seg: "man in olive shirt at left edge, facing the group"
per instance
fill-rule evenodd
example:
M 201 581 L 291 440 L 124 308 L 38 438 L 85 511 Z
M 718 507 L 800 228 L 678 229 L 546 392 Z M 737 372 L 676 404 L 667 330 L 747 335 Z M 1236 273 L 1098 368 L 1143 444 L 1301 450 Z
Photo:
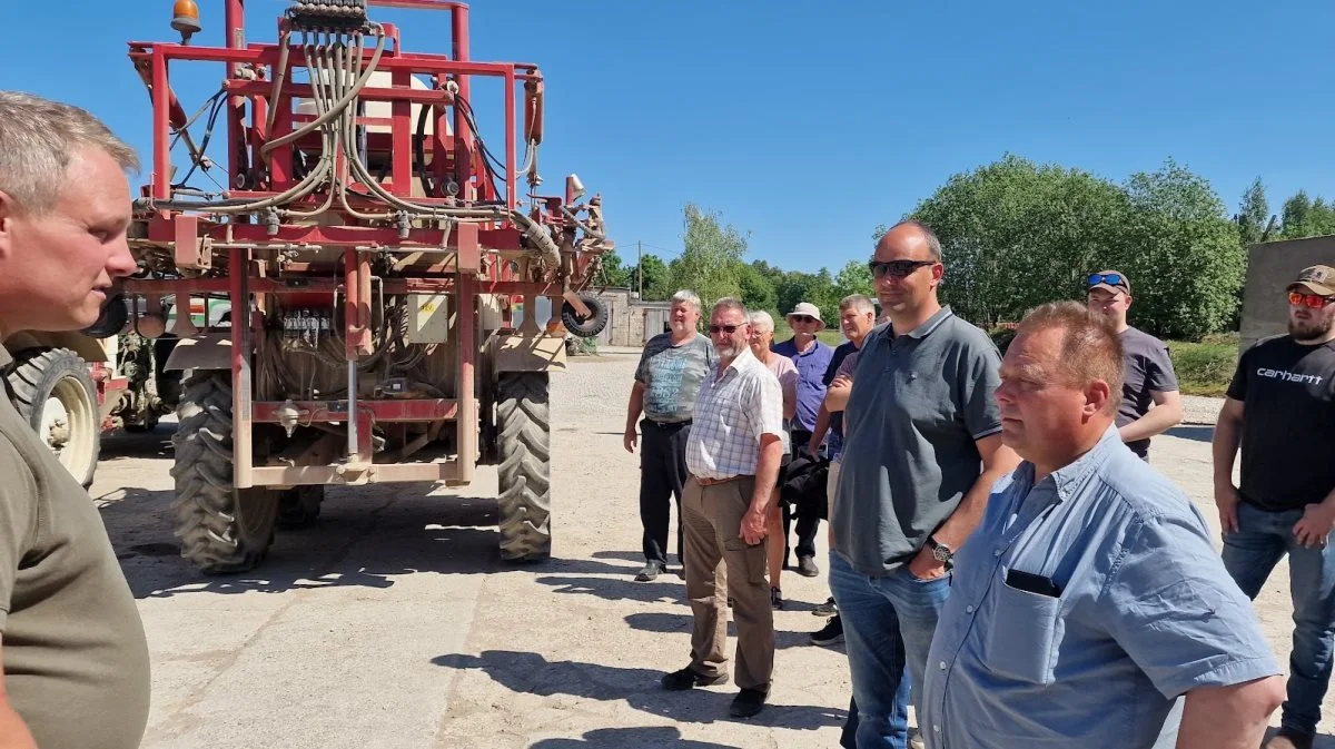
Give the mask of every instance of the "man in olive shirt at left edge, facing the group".
M 0 339 L 81 330 L 135 259 L 135 152 L 88 112 L 0 91 Z M 0 347 L 0 370 L 23 351 Z M 0 378 L 0 382 L 4 382 Z M 88 493 L 0 395 L 0 746 L 134 749 L 148 646 Z

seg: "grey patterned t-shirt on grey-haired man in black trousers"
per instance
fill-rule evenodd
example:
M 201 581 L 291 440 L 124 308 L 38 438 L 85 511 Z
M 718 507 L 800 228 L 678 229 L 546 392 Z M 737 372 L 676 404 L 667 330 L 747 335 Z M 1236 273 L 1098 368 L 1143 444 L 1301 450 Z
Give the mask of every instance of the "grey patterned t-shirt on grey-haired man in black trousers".
M 714 346 L 700 334 L 680 346 L 673 346 L 670 332 L 650 338 L 635 368 L 635 382 L 645 386 L 645 417 L 654 422 L 689 421 L 714 358 Z

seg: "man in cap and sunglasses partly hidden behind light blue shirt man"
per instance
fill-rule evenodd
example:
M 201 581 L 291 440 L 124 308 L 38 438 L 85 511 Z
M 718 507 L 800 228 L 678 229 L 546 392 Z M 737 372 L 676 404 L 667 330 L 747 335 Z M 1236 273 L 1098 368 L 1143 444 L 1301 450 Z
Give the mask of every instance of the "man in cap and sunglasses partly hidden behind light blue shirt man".
M 1149 438 L 1181 421 L 1181 395 L 1168 346 L 1127 324 L 1131 308 L 1131 280 L 1121 271 L 1099 271 L 1085 279 L 1085 308 L 1108 320 L 1121 336 L 1125 372 L 1121 405 L 1117 406 L 1117 433 L 1131 451 L 1149 459 Z

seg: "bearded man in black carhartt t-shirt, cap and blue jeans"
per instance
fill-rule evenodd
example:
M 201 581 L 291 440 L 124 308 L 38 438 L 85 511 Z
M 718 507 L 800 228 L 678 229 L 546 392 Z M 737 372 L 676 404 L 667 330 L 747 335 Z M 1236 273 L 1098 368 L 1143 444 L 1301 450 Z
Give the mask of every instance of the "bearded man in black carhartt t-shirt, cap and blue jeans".
M 1224 566 L 1255 598 L 1288 554 L 1294 650 L 1279 734 L 1267 749 L 1308 749 L 1331 678 L 1335 628 L 1335 268 L 1288 286 L 1288 335 L 1238 360 L 1215 427 L 1215 503 Z M 1242 445 L 1242 485 L 1234 458 Z

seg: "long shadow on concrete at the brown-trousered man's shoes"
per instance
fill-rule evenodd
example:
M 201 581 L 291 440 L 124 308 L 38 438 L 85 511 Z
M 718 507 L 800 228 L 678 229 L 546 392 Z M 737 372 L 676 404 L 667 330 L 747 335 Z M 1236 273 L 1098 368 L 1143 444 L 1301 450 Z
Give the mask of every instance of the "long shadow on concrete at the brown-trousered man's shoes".
M 631 708 L 678 722 L 712 724 L 728 717 L 736 688 L 720 690 L 692 689 L 666 692 L 658 680 L 662 672 L 650 669 L 623 669 L 578 661 L 547 661 L 538 653 L 513 650 L 485 650 L 481 656 L 450 654 L 431 660 L 438 666 L 485 672 L 497 684 L 522 694 L 551 697 L 567 694 L 585 700 L 625 701 Z M 794 730 L 817 730 L 824 726 L 844 725 L 844 710 L 812 705 L 769 705 L 748 722 Z M 651 729 L 631 729 L 651 730 Z M 595 732 L 597 733 L 597 732 Z M 583 744 L 554 744 L 543 746 L 585 746 Z M 597 744 L 597 746 L 626 746 L 625 744 Z M 634 746 L 633 744 L 630 746 Z M 655 745 L 657 746 L 657 745 Z M 665 746 L 665 744 L 663 744 Z M 690 744 L 684 744 L 690 746 Z M 697 745 L 709 748 L 712 745 Z

